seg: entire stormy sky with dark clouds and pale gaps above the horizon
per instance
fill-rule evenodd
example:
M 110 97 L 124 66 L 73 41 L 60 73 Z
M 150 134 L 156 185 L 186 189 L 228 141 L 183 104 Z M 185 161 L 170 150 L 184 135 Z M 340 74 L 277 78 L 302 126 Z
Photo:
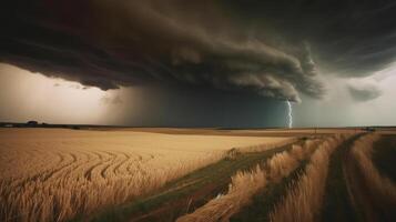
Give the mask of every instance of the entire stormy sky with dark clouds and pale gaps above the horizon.
M 394 1 L 16 0 L 0 121 L 395 125 Z

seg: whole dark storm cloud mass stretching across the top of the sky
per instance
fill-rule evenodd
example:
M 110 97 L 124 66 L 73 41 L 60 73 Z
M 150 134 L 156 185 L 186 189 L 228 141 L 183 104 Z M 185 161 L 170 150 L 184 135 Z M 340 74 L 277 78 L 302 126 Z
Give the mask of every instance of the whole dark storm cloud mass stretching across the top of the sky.
M 390 61 L 396 50 L 394 8 L 387 2 L 9 4 L 1 11 L 2 61 L 103 90 L 181 83 L 298 101 L 299 92 L 324 93 L 315 61 L 364 75 Z

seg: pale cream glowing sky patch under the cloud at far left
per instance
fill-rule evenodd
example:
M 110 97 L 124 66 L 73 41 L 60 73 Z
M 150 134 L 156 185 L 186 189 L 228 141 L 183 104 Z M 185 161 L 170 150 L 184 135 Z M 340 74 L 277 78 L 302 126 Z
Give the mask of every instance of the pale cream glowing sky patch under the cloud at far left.
M 1 121 L 101 123 L 108 92 L 0 63 Z

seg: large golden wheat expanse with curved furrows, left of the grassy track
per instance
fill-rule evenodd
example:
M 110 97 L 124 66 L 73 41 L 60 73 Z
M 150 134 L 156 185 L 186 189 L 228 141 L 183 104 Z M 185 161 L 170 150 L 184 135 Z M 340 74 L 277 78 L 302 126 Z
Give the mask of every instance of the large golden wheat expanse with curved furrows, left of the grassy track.
M 284 138 L 124 131 L 0 130 L 0 221 L 65 221 L 120 204 L 215 162 L 231 148 Z

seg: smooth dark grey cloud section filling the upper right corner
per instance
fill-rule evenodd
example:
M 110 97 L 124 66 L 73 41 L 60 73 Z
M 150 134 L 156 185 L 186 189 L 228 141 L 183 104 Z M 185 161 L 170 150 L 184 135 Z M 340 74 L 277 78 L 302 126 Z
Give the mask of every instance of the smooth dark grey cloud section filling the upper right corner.
M 321 70 L 366 77 L 396 60 L 393 0 L 224 0 L 285 41 L 307 40 Z

